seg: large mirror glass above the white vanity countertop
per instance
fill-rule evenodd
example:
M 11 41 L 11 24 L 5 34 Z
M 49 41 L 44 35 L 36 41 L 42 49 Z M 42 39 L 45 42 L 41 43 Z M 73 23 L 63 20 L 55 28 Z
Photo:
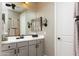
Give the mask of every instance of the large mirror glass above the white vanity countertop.
M 41 31 L 40 18 L 36 18 L 35 4 L 3 2 L 2 20 L 4 21 L 4 34 L 19 36 Z

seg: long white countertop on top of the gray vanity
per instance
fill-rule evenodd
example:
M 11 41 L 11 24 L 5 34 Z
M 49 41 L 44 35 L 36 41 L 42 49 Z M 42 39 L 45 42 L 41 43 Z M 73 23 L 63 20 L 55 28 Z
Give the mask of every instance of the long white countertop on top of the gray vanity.
M 16 43 L 16 42 L 22 42 L 22 41 L 44 39 L 44 35 L 38 35 L 38 37 L 24 36 L 23 39 L 16 39 L 16 38 L 17 38 L 17 36 L 15 36 L 15 37 L 8 37 L 8 40 L 7 41 L 2 41 L 1 44 Z

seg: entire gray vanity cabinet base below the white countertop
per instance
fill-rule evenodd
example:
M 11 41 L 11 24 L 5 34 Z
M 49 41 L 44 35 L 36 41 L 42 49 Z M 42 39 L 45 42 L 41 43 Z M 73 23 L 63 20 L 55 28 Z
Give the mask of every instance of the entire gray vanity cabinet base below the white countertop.
M 2 56 L 42 56 L 43 39 L 2 44 Z

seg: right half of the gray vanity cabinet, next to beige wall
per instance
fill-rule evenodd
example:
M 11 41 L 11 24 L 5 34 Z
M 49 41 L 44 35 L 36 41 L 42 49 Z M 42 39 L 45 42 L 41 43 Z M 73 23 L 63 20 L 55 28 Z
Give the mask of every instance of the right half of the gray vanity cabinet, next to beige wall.
M 44 55 L 44 41 L 42 39 L 29 41 L 29 56 Z

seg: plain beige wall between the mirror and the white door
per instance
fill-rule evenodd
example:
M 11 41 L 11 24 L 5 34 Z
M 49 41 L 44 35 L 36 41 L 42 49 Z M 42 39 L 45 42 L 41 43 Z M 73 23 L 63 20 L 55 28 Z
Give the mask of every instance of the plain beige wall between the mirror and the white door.
M 37 17 L 42 16 L 48 20 L 48 26 L 43 27 L 43 31 L 46 31 L 45 53 L 52 56 L 54 55 L 54 3 L 38 3 L 38 7 Z

